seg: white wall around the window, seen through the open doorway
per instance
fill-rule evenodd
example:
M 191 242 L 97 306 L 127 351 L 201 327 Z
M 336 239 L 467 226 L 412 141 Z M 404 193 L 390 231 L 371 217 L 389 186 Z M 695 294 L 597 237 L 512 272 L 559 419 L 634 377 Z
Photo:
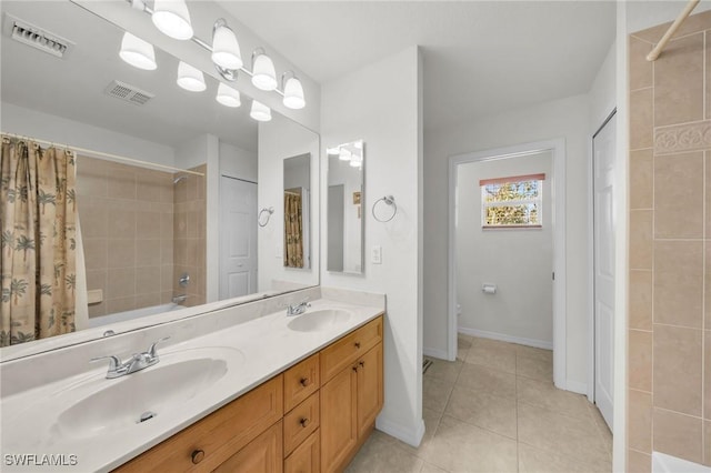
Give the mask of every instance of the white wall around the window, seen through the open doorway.
M 457 294 L 459 329 L 553 344 L 552 153 L 478 161 L 458 167 Z M 544 173 L 541 229 L 482 229 L 481 179 Z M 481 291 L 495 284 L 495 294 Z M 473 331 L 473 332 L 472 332 Z

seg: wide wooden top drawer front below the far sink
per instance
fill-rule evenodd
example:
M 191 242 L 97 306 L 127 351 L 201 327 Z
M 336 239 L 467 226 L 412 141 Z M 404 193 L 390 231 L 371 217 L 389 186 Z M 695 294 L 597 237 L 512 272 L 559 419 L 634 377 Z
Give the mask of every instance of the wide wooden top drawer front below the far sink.
M 321 385 L 382 341 L 382 315 L 321 351 Z

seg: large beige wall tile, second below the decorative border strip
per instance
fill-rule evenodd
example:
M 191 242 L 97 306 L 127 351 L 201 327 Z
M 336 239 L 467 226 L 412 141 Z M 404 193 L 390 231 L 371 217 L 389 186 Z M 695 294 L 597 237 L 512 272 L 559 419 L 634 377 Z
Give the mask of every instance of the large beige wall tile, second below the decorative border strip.
M 654 322 L 701 329 L 703 242 L 654 242 Z

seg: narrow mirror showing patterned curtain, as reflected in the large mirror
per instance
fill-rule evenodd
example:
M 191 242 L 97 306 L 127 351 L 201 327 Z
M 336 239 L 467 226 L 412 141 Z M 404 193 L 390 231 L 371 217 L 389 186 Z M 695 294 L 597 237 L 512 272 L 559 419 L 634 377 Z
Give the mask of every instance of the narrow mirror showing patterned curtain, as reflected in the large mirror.
M 284 266 L 310 268 L 311 154 L 284 160 Z

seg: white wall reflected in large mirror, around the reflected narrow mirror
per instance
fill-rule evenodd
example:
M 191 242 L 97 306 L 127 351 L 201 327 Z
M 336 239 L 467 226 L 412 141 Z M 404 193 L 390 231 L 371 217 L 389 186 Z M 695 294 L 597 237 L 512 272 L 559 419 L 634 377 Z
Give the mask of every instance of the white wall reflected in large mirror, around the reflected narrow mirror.
M 311 187 L 311 264 L 308 269 L 284 268 L 284 189 L 283 161 L 311 153 L 311 182 L 319 179 L 319 135 L 290 119 L 272 114 L 269 122 L 259 123 L 259 185 L 257 208 L 274 208 L 269 223 L 260 227 L 258 246 L 259 291 L 276 289 L 274 282 L 301 285 L 319 284 L 319 188 Z

